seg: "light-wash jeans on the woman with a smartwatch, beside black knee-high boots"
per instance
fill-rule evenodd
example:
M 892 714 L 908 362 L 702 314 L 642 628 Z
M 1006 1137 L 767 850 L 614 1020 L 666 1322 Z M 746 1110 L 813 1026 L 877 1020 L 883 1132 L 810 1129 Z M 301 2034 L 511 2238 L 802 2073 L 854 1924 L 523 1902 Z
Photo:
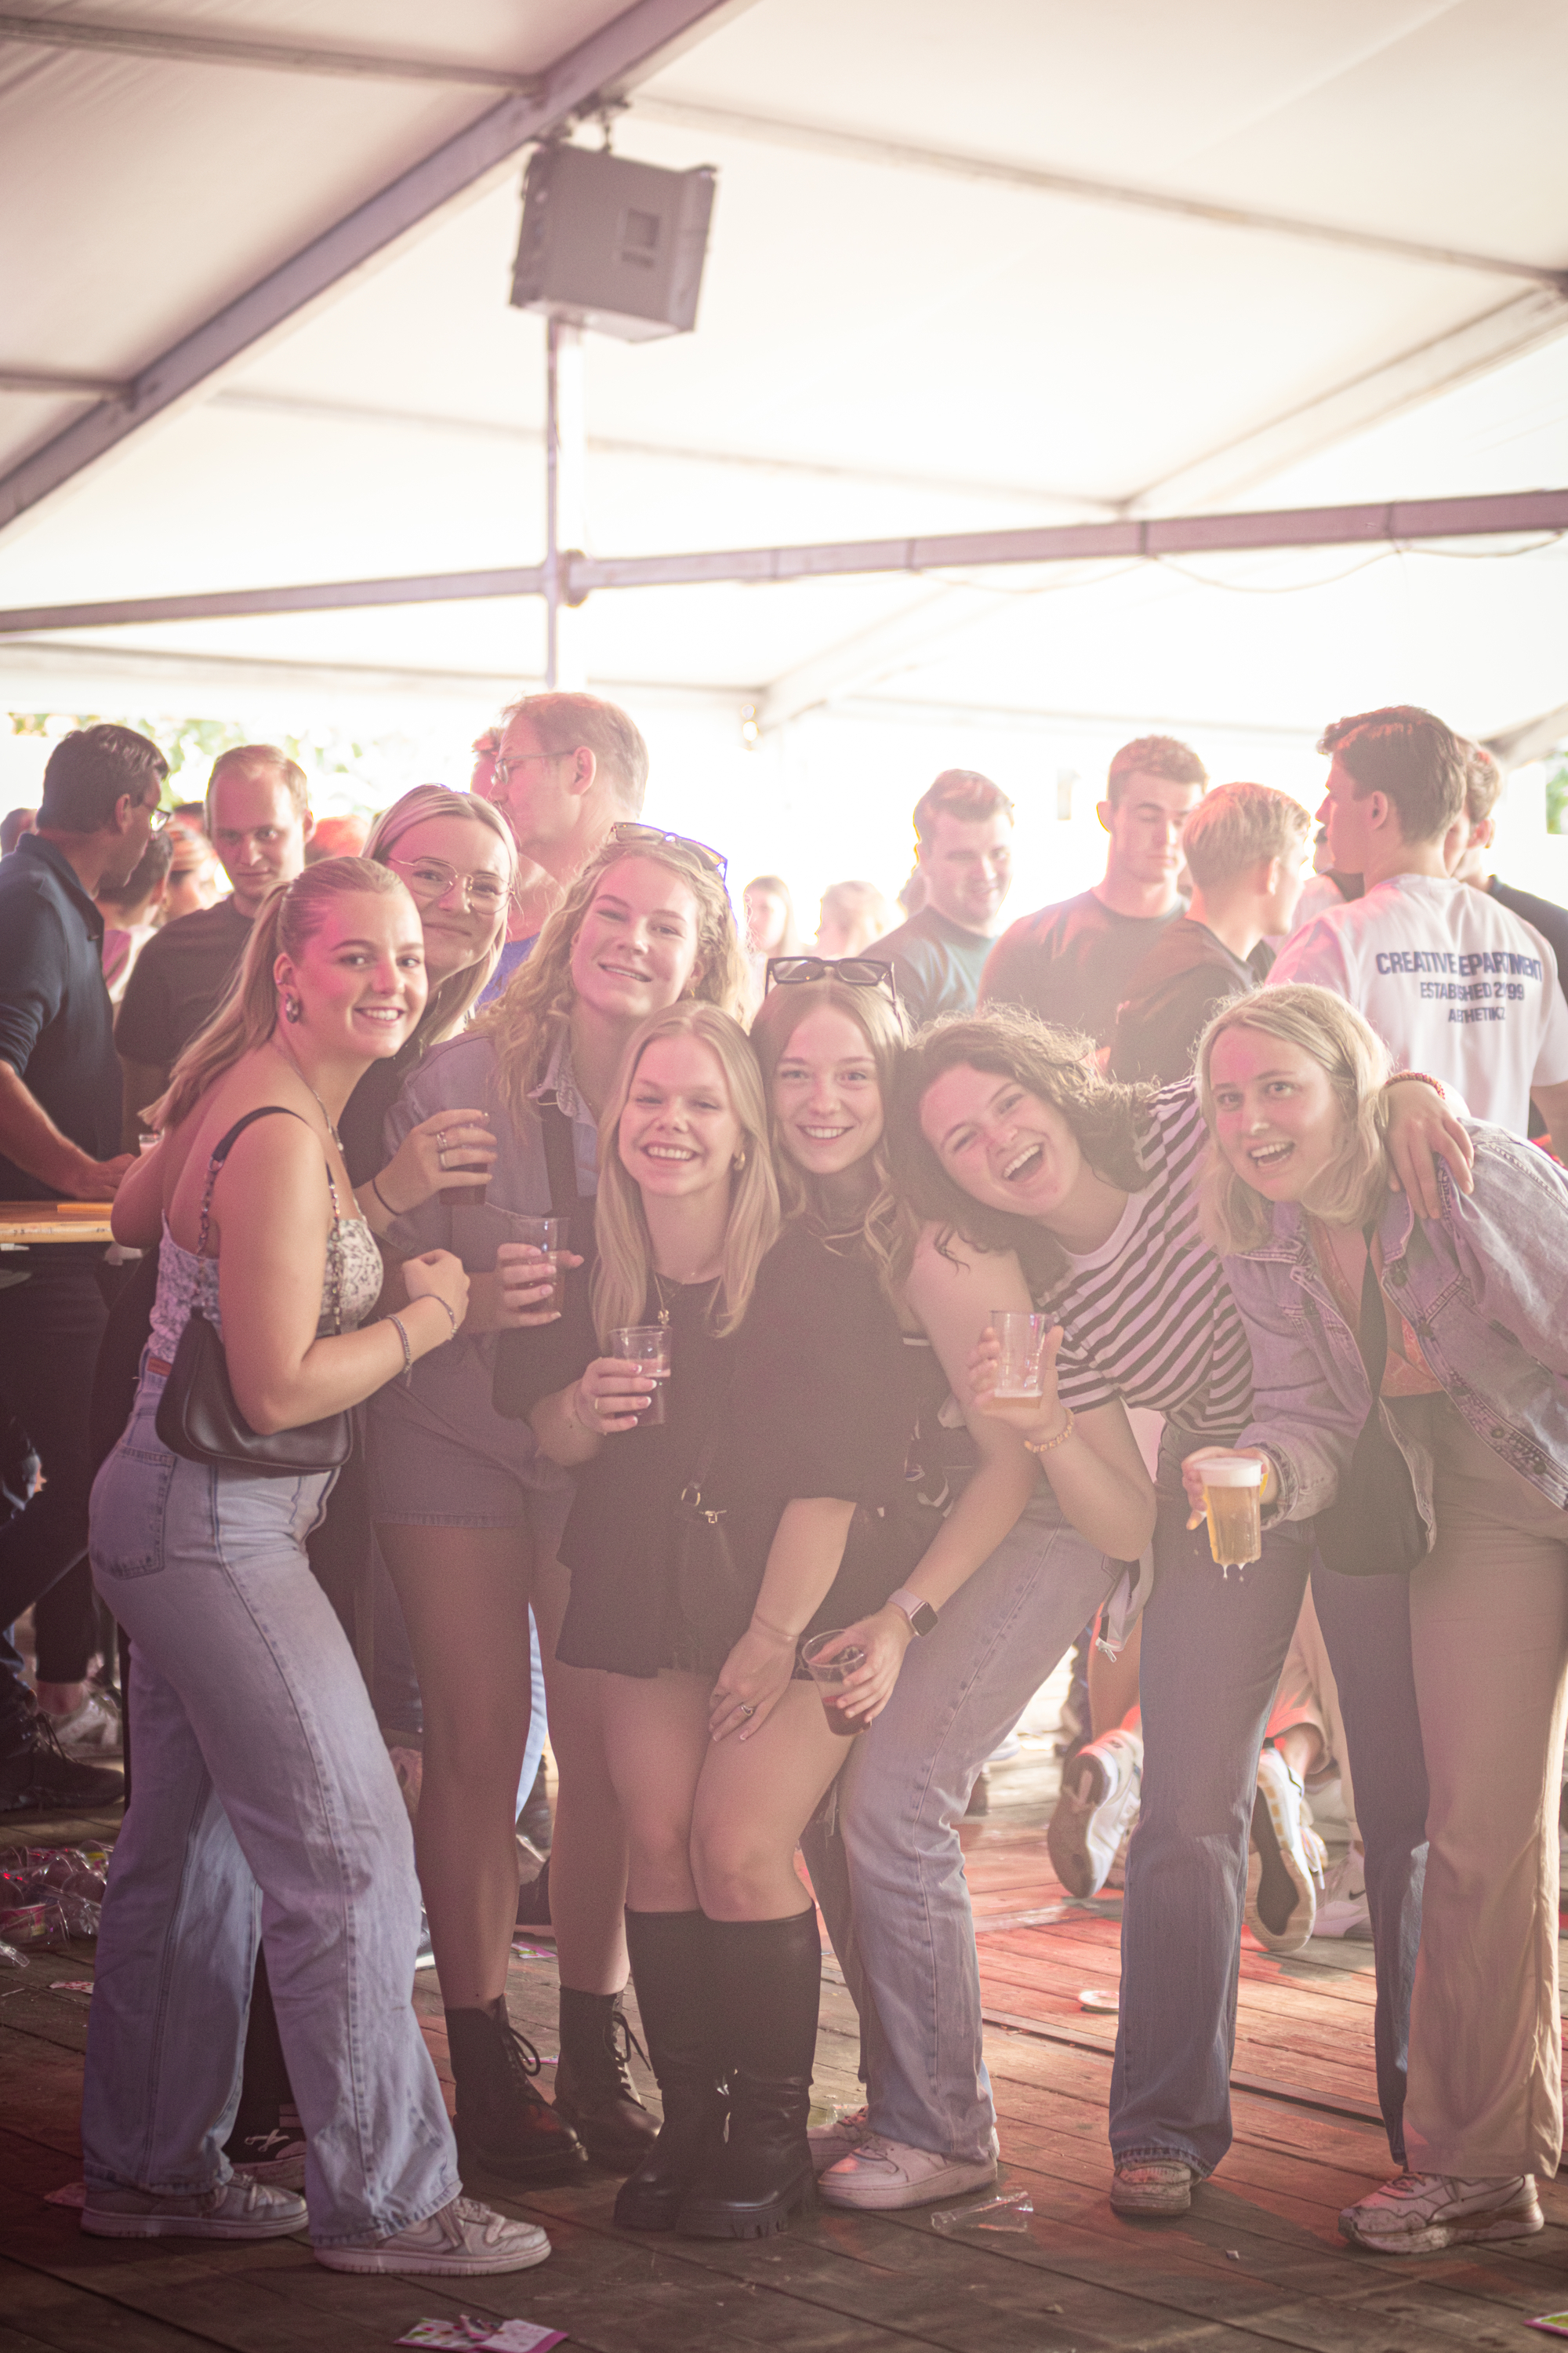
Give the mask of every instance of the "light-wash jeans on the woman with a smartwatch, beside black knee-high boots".
M 910 1642 L 839 1779 L 839 1838 L 813 1824 L 802 1842 L 860 2007 L 870 2125 L 891 2141 L 959 2162 L 990 2155 L 997 2111 L 959 1821 L 980 1765 L 1119 1574 L 1041 1478 L 936 1633 Z

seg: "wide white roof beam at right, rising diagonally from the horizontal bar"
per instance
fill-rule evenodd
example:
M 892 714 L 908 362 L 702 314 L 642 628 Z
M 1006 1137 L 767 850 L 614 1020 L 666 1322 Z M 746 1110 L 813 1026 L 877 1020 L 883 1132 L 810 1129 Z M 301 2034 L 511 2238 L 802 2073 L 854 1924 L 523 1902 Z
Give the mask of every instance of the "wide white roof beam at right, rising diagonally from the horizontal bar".
M 1436 393 L 1453 391 L 1472 376 L 1483 376 L 1505 360 L 1552 344 L 1563 332 L 1568 332 L 1568 299 L 1535 287 L 1530 294 L 1502 304 L 1500 311 L 1472 318 L 1462 327 L 1368 369 L 1352 384 L 1340 384 L 1331 393 L 1274 416 L 1267 426 L 1237 435 L 1208 456 L 1168 473 L 1161 482 L 1150 482 L 1135 499 L 1128 499 L 1126 513 L 1171 515 L 1234 499 L 1255 482 L 1274 480 L 1286 466 L 1295 466 L 1352 433 L 1363 433 L 1368 426 L 1382 424 L 1385 416 L 1413 409 Z

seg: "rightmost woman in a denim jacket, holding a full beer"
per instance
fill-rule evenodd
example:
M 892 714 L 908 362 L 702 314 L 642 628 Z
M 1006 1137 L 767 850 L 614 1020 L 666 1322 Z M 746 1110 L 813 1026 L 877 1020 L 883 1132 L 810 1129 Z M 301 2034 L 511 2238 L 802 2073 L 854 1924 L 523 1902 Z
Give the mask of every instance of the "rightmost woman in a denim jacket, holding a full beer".
M 1199 1049 L 1208 1226 L 1253 1344 L 1265 1520 L 1335 1501 L 1371 1384 L 1368 1249 L 1387 1308 L 1380 1419 L 1427 1532 L 1410 1645 L 1432 1807 L 1410 2002 L 1410 2169 L 1340 2231 L 1387 2254 L 1540 2231 L 1561 2151 L 1559 1786 L 1568 1689 L 1568 1176 L 1467 1122 L 1472 1191 L 1389 1188 L 1387 1054 L 1324 988 L 1262 988 Z M 1373 1226 L 1375 1221 L 1375 1226 Z M 1366 1238 L 1371 1233 L 1371 1240 Z M 1201 1454 L 1187 1457 L 1201 1492 Z

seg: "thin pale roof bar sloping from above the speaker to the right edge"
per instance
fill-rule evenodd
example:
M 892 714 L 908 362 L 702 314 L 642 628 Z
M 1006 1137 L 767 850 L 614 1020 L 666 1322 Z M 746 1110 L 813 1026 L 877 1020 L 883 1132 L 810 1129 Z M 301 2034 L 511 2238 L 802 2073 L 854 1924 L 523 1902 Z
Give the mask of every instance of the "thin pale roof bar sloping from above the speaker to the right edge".
M 905 172 L 945 172 L 957 179 L 997 181 L 1004 188 L 1030 188 L 1037 195 L 1065 195 L 1084 205 L 1119 205 L 1133 212 L 1175 212 L 1215 228 L 1253 228 L 1272 238 L 1305 238 L 1309 245 L 1352 247 L 1363 254 L 1392 254 L 1396 261 L 1425 261 L 1439 268 L 1483 271 L 1497 278 L 1533 278 L 1540 285 L 1568 289 L 1568 268 L 1544 261 L 1512 261 L 1502 254 L 1474 254 L 1458 245 L 1420 245 L 1392 238 L 1378 228 L 1349 228 L 1338 221 L 1302 221 L 1288 212 L 1258 212 L 1251 205 L 1215 205 L 1201 195 L 1178 195 L 1171 188 L 1138 188 L 1110 179 L 1086 179 L 1079 172 L 1044 172 L 1037 165 L 1004 162 L 997 155 L 964 155 L 952 148 L 914 146 L 905 139 L 877 139 L 863 132 L 839 132 L 823 122 L 792 122 L 783 115 L 752 115 L 733 106 L 701 106 L 689 99 L 637 99 L 637 113 L 649 122 L 677 122 L 686 129 L 764 139 L 771 146 L 804 148 L 813 155 L 842 155 L 846 162 L 870 162 Z

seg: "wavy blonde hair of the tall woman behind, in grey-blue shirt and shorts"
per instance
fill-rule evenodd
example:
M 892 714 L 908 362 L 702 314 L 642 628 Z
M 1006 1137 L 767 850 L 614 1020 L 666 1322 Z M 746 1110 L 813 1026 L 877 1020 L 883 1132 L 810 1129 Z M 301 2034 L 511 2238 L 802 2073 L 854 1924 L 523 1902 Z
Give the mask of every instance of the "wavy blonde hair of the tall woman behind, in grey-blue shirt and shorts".
M 618 842 L 611 835 L 548 918 L 534 955 L 475 1024 L 475 1033 L 489 1038 L 496 1049 L 496 1087 L 512 1118 L 527 1118 L 529 1096 L 550 1068 L 550 1054 L 576 1002 L 571 951 L 583 915 L 604 875 L 623 859 L 663 866 L 696 899 L 696 965 L 689 995 L 726 1014 L 738 1014 L 745 1005 L 745 960 L 722 875 L 679 842 Z

